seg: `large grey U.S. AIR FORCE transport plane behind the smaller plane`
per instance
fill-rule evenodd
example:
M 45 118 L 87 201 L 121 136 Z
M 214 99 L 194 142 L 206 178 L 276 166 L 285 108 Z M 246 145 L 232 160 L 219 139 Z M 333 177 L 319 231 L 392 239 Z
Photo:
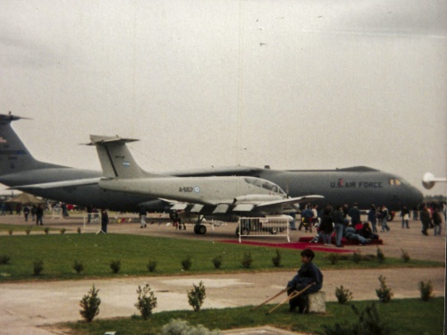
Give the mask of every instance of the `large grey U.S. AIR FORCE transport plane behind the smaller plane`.
M 162 200 L 107 191 L 99 188 L 102 172 L 76 169 L 36 160 L 23 145 L 11 126 L 12 121 L 24 118 L 0 114 L 0 183 L 38 197 L 45 197 L 67 204 L 93 205 L 114 211 L 138 211 L 144 205 L 150 211 L 163 212 L 166 203 Z M 222 167 L 185 172 L 164 172 L 177 177 L 201 176 L 251 176 L 269 180 L 282 188 L 290 197 L 318 194 L 312 204 L 352 205 L 368 209 L 371 204 L 386 205 L 388 209 L 400 210 L 402 205 L 412 208 L 422 202 L 422 193 L 392 173 L 368 167 L 351 167 L 336 170 L 273 170 L 257 167 Z M 84 182 L 80 184 L 80 180 Z M 86 185 L 89 180 L 89 185 Z

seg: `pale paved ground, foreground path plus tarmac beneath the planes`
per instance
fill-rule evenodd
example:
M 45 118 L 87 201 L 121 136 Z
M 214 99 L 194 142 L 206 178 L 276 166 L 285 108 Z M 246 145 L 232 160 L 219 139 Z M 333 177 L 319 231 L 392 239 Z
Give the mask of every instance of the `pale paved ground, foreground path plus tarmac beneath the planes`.
M 166 222 L 148 224 L 147 229 L 139 229 L 139 223 L 126 221 L 125 223 L 112 223 L 109 225 L 109 233 L 133 233 L 153 236 L 175 236 L 185 239 L 236 239 L 234 235 L 235 225 L 215 227 L 208 226 L 205 236 L 195 235 L 191 226 L 185 230 L 174 230 L 172 226 L 166 226 Z M 14 216 L 6 216 L 0 222 L 15 222 L 26 224 Z M 82 220 L 71 217 L 59 220 L 50 217 L 44 222 L 54 228 L 66 228 L 67 233 L 75 232 L 78 227 L 83 229 Z M 409 253 L 411 258 L 436 260 L 445 264 L 446 239 L 443 235 L 425 237 L 420 233 L 420 222 L 410 222 L 410 229 L 401 229 L 400 222 L 391 223 L 392 230 L 382 234 L 384 245 L 380 246 L 384 255 L 400 257 L 401 249 Z M 445 227 L 445 225 L 444 225 Z M 95 231 L 97 226 L 86 226 L 86 230 Z M 429 231 L 433 234 L 433 230 Z M 57 232 L 59 233 L 59 232 Z M 291 241 L 297 241 L 300 236 L 309 236 L 303 231 L 291 231 Z M 285 239 L 268 239 L 272 242 L 285 242 Z M 329 250 L 331 247 L 327 247 Z M 349 249 L 360 248 L 364 254 L 375 254 L 375 246 L 352 246 Z M 299 251 L 297 251 L 298 253 Z M 317 259 L 316 259 L 317 264 Z M 334 290 L 343 285 L 350 289 L 355 300 L 376 299 L 375 289 L 379 287 L 377 277 L 382 274 L 386 282 L 394 292 L 394 298 L 420 297 L 417 283 L 419 281 L 432 281 L 435 296 L 445 296 L 445 265 L 444 268 L 426 269 L 381 269 L 381 270 L 356 270 L 325 271 L 324 290 L 326 300 L 335 301 Z M 266 298 L 274 296 L 283 289 L 287 281 L 294 273 L 240 273 L 203 276 L 181 277 L 156 277 L 156 278 L 121 278 L 117 280 L 86 280 L 86 281 L 51 281 L 51 282 L 19 282 L 0 284 L 0 334 L 63 334 L 63 330 L 51 327 L 56 322 L 80 320 L 79 301 L 87 293 L 92 283 L 100 289 L 102 300 L 99 317 L 108 318 L 115 316 L 131 316 L 138 314 L 133 306 L 136 301 L 135 292 L 139 285 L 149 283 L 156 293 L 158 306 L 155 313 L 166 310 L 190 310 L 186 292 L 192 288 L 192 284 L 203 281 L 207 288 L 207 299 L 203 308 L 223 308 L 232 306 L 257 306 Z M 259 288 L 262 288 L 260 290 Z M 131 293 L 130 293 L 131 292 Z M 259 292 L 262 292 L 261 294 Z M 279 297 L 279 302 L 283 297 Z M 47 304 L 51 301 L 51 304 Z M 232 334 L 280 334 L 284 331 L 268 327 L 250 330 L 235 330 Z M 297 334 L 297 333 L 295 333 Z

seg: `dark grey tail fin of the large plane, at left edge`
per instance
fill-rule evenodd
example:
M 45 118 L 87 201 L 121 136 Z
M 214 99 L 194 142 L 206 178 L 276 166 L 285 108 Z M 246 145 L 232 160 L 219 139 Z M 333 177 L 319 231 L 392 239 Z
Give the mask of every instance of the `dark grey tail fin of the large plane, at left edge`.
M 0 175 L 61 167 L 61 165 L 39 162 L 30 154 L 11 126 L 12 121 L 21 119 L 26 118 L 11 113 L 0 114 Z

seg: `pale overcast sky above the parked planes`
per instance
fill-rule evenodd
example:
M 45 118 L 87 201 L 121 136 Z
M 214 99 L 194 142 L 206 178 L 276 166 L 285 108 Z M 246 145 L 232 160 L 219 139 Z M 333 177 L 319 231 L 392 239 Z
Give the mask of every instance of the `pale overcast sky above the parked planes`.
M 39 160 L 447 175 L 445 0 L 0 0 L 0 113 Z

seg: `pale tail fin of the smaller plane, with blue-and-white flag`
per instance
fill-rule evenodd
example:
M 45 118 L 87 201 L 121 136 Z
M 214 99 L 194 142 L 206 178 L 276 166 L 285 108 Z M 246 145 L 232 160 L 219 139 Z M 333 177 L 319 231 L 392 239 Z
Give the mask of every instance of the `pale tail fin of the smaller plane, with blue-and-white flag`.
M 135 179 L 152 176 L 139 167 L 126 146 L 126 143 L 138 139 L 90 135 L 90 140 L 90 145 L 97 147 L 105 178 Z

